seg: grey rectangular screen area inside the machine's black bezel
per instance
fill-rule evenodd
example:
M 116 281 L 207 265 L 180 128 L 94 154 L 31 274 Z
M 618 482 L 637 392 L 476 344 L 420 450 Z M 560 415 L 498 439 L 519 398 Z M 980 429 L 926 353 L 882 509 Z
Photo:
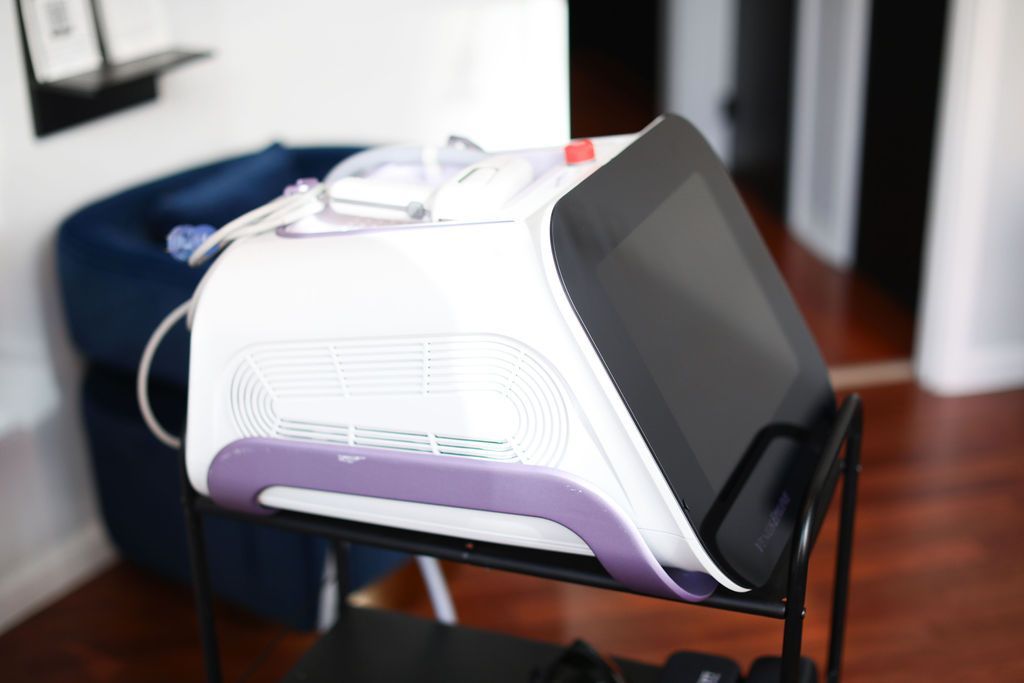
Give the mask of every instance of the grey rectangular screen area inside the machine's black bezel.
M 797 357 L 707 182 L 692 175 L 597 265 L 716 490 L 769 423 Z

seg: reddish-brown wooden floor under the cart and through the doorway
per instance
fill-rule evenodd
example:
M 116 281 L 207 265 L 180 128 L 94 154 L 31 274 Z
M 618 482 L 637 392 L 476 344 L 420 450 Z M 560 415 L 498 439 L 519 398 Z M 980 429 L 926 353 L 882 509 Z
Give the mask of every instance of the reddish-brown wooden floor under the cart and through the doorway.
M 830 365 L 907 355 L 911 323 L 870 285 L 825 268 L 752 207 Z M 847 681 L 1024 681 L 1024 392 L 862 392 L 863 451 Z M 806 652 L 821 661 L 835 516 L 812 565 Z M 462 622 L 657 663 L 674 649 L 748 665 L 780 624 L 650 598 L 447 567 Z M 364 599 L 427 614 L 414 571 Z M 313 640 L 220 605 L 228 681 L 272 681 Z M 400 644 L 396 645 L 400 647 Z M 120 564 L 0 636 L 4 681 L 199 681 L 190 594 Z

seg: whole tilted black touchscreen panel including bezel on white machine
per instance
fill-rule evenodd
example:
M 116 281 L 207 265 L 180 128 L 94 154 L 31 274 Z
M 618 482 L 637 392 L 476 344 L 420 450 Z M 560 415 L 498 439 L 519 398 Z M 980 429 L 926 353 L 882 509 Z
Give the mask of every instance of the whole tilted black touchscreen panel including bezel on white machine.
M 731 178 L 667 116 L 559 200 L 558 274 L 716 563 L 762 585 L 835 414 L 827 371 Z

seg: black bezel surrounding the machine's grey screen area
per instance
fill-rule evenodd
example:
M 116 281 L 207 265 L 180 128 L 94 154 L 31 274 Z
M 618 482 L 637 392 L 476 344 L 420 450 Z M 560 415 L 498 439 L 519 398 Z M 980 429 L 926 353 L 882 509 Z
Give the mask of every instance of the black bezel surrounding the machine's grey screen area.
M 724 487 L 716 490 L 709 481 L 597 274 L 599 264 L 611 250 L 694 174 L 705 180 L 798 361 L 796 377 L 775 408 L 770 424 L 810 430 L 835 411 L 824 362 L 731 178 L 689 123 L 671 115 L 659 118 L 632 144 L 563 196 L 552 210 L 551 244 L 556 269 L 580 323 L 691 526 L 730 578 L 751 585 L 771 572 L 778 553 L 763 559 L 745 557 L 748 565 L 763 565 L 752 572 L 734 569 L 733 564 L 739 562 L 717 552 L 718 543 L 710 538 L 716 528 L 703 525 L 706 520 L 713 526 L 721 522 L 720 510 L 713 515 L 715 519 L 708 517 Z M 751 447 L 755 447 L 753 442 Z M 731 457 L 739 468 L 744 454 Z M 787 489 L 788 482 L 803 485 L 803 474 L 813 467 L 812 460 L 794 457 L 794 467 L 801 471 L 744 481 L 743 485 L 753 489 L 744 489 L 742 496 L 730 492 L 730 505 L 763 506 L 764 500 Z M 752 512 L 752 518 L 757 518 L 753 508 Z M 754 538 L 758 531 L 751 529 Z

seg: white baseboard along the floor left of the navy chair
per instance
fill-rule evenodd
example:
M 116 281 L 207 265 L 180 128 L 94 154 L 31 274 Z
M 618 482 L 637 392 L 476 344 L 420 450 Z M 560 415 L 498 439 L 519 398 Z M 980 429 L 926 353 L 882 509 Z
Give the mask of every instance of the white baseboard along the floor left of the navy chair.
M 0 633 L 111 566 L 117 552 L 98 519 L 0 577 Z

